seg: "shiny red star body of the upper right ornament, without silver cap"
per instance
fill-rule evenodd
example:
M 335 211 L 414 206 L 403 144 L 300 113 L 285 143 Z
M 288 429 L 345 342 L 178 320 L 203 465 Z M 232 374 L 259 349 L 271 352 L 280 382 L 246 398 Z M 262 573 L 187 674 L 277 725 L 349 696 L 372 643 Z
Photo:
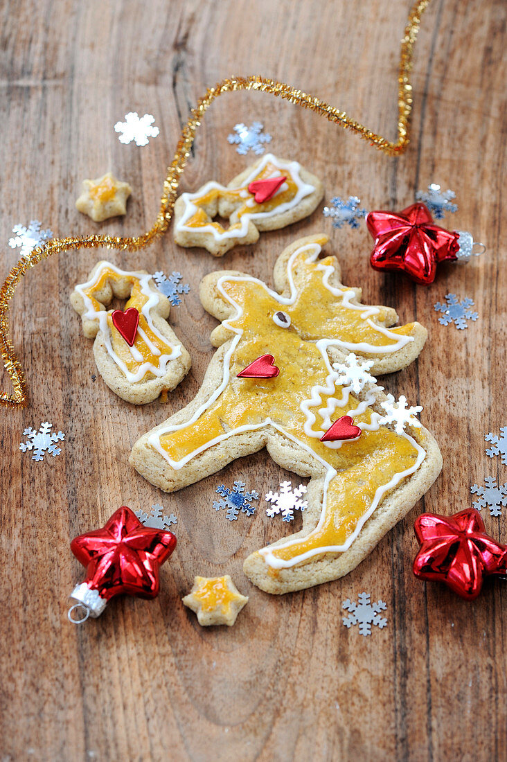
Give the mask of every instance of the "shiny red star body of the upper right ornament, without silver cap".
M 412 203 L 399 214 L 370 212 L 366 224 L 375 239 L 370 258 L 374 270 L 398 270 L 428 286 L 437 264 L 457 259 L 459 233 L 435 225 L 424 203 Z

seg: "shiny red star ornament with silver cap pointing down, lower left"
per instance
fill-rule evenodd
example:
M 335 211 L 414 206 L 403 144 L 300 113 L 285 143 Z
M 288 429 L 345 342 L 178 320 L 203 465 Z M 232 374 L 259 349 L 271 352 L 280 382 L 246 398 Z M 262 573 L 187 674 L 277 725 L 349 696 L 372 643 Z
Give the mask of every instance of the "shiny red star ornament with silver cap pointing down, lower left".
M 159 567 L 176 546 L 172 532 L 148 529 L 126 505 L 118 508 L 104 527 L 75 537 L 70 549 L 86 567 L 86 578 L 71 597 L 88 616 L 99 616 L 115 595 L 155 598 L 159 594 Z M 74 608 L 74 607 L 72 607 Z M 69 619 L 75 623 L 70 616 Z

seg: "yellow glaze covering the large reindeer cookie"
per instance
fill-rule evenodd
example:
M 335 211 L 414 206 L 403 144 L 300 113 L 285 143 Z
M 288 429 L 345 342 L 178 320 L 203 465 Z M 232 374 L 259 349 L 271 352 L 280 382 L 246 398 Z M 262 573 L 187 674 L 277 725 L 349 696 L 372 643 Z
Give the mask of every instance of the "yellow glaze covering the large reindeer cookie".
M 386 485 L 397 473 L 412 468 L 418 456 L 418 451 L 406 437 L 383 426 L 377 431 L 363 431 L 358 440 L 345 442 L 339 449 L 330 449 L 319 438 L 305 433 L 306 416 L 300 405 L 310 399 L 314 386 L 326 386 L 329 373 L 316 339 L 325 336 L 386 347 L 396 344 L 400 335 L 409 335 L 413 327 L 409 324 L 390 329 L 393 338 L 375 331 L 364 317 L 361 318 L 367 306 L 361 310 L 345 306 L 343 299 L 332 294 L 323 282 L 324 271 L 319 269 L 319 264 L 332 264 L 332 258 L 310 262 L 306 261 L 307 256 L 303 253 L 294 261 L 297 296 L 294 304 L 289 306 L 274 299 L 262 283 L 222 281 L 223 290 L 242 308 L 242 315 L 228 322 L 231 328 L 242 330 L 230 360 L 229 383 L 197 421 L 162 434 L 159 440 L 168 456 L 179 461 L 228 431 L 262 424 L 270 418 L 332 466 L 338 473 L 329 482 L 322 527 L 289 547 L 274 548 L 274 555 L 280 559 L 293 559 L 320 547 L 342 546 L 371 506 L 377 488 Z M 345 291 L 343 288 L 342 293 Z M 273 322 L 272 315 L 279 310 L 290 316 L 290 328 L 278 327 Z M 370 319 L 375 323 L 383 317 L 385 312 L 380 309 Z M 236 377 L 262 354 L 274 355 L 274 362 L 280 369 L 278 376 L 271 379 Z M 313 431 L 322 428 L 319 409 L 326 407 L 329 396 L 322 394 L 321 402 L 310 408 L 316 415 Z M 341 387 L 337 386 L 332 396 L 342 399 Z M 371 422 L 371 408 L 361 415 L 354 414 L 358 404 L 358 399 L 350 395 L 347 404 L 335 408 L 332 420 L 350 414 L 356 424 L 358 421 Z M 272 437 L 269 429 L 261 430 L 261 434 L 269 447 Z M 325 472 L 326 467 L 322 465 L 322 475 Z

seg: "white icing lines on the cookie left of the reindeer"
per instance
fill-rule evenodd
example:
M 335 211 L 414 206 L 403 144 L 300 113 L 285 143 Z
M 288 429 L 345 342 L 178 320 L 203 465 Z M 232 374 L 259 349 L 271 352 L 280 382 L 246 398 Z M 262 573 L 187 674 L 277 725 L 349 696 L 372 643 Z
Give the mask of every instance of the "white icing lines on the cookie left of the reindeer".
M 140 314 L 144 315 L 146 318 L 146 322 L 149 325 L 149 328 L 153 333 L 164 342 L 164 344 L 167 344 L 169 347 L 172 347 L 172 353 L 171 354 L 160 354 L 160 350 L 158 347 L 155 347 L 154 344 L 152 344 L 151 341 L 149 341 L 148 336 L 146 335 L 146 332 L 143 331 L 143 328 L 137 328 L 137 333 L 139 333 L 140 337 L 143 339 L 143 341 L 147 344 L 149 350 L 152 352 L 152 354 L 159 354 L 159 364 L 158 366 L 152 365 L 152 363 L 149 363 L 146 361 L 146 363 L 143 363 L 140 365 L 136 373 L 132 373 L 128 368 L 127 365 L 124 363 L 124 361 L 118 357 L 116 352 L 113 349 L 113 346 L 111 344 L 111 331 L 109 329 L 109 324 L 107 323 L 107 315 L 109 315 L 109 312 L 107 310 L 98 310 L 95 309 L 93 302 L 91 300 L 91 297 L 88 296 L 88 294 L 85 293 L 85 290 L 90 289 L 94 287 L 98 280 L 100 280 L 101 275 L 104 273 L 104 270 L 112 270 L 114 273 L 120 276 L 126 276 L 126 277 L 134 277 L 139 281 L 140 284 L 140 290 L 141 293 L 144 294 L 144 296 L 147 296 L 148 299 L 146 300 L 146 303 L 143 304 L 143 307 L 141 308 Z M 150 310 L 152 307 L 155 307 L 160 302 L 160 292 L 159 290 L 153 289 L 149 285 L 149 280 L 151 278 L 151 275 L 149 274 L 143 274 L 143 273 L 136 273 L 135 271 L 125 271 L 120 270 L 119 267 L 115 267 L 114 264 L 111 264 L 111 262 L 101 262 L 100 266 L 98 267 L 98 270 L 96 271 L 93 278 L 88 280 L 87 283 L 79 283 L 75 290 L 82 296 L 83 302 L 85 303 L 85 309 L 87 309 L 87 312 L 85 312 L 82 315 L 83 319 L 87 320 L 98 320 L 98 327 L 99 330 L 102 331 L 102 334 L 104 335 L 104 341 L 107 349 L 107 353 L 110 355 L 112 360 L 117 364 L 117 366 L 120 368 L 120 370 L 124 373 L 125 377 L 127 378 L 127 381 L 130 383 L 136 383 L 137 381 L 140 381 L 141 379 L 146 376 L 146 373 L 150 372 L 154 376 L 157 376 L 161 378 L 162 376 L 165 376 L 165 373 L 167 373 L 167 363 L 170 360 L 176 360 L 177 357 L 180 357 L 181 355 L 181 344 L 171 344 L 171 342 L 166 338 L 165 336 L 162 336 L 160 331 L 157 330 L 155 325 L 153 324 L 152 316 L 150 315 Z M 98 301 L 96 299 L 95 301 Z M 127 342 L 125 343 L 126 347 L 129 348 L 130 354 L 132 355 L 132 358 L 134 362 L 140 363 L 143 360 L 143 355 L 140 353 L 140 351 L 135 347 L 129 347 Z

